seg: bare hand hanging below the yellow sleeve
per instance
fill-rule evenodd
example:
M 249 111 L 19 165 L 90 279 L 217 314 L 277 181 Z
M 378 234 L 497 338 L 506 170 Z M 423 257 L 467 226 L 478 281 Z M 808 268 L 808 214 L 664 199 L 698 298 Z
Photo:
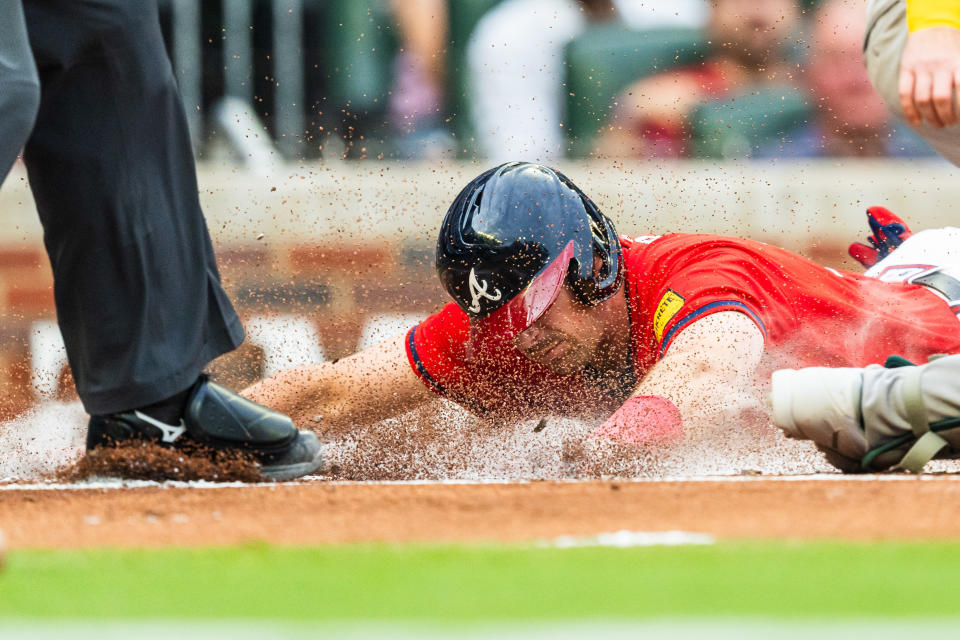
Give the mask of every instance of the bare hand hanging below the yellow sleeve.
M 907 121 L 937 128 L 957 123 L 960 30 L 930 27 L 910 34 L 900 59 L 900 105 Z

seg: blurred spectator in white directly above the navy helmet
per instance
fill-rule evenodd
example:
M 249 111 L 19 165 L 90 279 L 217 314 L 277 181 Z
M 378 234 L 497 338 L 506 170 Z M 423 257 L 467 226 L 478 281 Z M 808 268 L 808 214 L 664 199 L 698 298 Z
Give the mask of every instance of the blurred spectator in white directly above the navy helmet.
M 505 0 L 480 21 L 467 49 L 480 152 L 490 162 L 563 157 L 567 43 L 590 24 L 617 19 L 634 28 L 696 26 L 704 6 L 702 0 Z

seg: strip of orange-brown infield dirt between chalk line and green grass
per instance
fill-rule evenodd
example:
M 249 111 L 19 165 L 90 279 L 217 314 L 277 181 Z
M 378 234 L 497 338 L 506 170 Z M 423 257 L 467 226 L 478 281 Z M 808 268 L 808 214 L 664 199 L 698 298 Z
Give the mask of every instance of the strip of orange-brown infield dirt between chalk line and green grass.
M 0 488 L 0 529 L 12 549 L 529 542 L 619 530 L 726 539 L 960 536 L 955 475 Z

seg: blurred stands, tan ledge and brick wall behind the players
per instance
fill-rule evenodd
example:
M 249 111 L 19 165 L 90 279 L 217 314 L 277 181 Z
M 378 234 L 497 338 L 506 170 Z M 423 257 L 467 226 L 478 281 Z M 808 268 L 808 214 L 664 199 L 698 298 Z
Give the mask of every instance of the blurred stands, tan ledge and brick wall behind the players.
M 242 387 L 444 300 L 435 230 L 509 159 L 626 234 L 754 237 L 836 267 L 885 204 L 955 219 L 955 170 L 863 69 L 860 0 L 162 0 Z M 22 167 L 0 190 L 0 420 L 70 397 Z

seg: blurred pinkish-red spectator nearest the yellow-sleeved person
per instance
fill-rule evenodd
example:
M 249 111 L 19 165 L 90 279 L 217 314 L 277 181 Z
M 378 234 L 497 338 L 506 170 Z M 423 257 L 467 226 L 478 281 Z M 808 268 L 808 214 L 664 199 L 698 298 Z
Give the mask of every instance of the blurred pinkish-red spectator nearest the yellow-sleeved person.
M 895 126 L 870 84 L 861 50 L 866 30 L 863 0 L 825 0 L 810 25 L 811 50 L 803 75 L 813 96 L 813 121 L 758 157 L 878 157 L 930 155 L 933 150 L 906 126 Z M 893 125 L 893 126 L 892 126 Z

